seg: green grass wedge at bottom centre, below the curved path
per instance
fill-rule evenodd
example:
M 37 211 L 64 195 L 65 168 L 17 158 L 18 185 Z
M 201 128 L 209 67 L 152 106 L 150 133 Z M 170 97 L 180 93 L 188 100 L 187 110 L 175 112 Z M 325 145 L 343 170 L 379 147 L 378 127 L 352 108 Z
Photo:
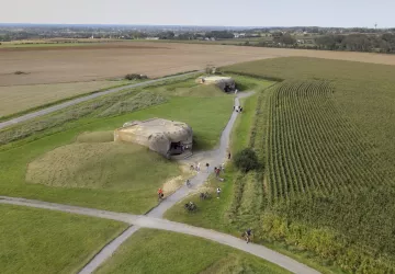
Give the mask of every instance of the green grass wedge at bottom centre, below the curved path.
M 142 229 L 95 273 L 289 273 L 232 248 L 174 232 Z

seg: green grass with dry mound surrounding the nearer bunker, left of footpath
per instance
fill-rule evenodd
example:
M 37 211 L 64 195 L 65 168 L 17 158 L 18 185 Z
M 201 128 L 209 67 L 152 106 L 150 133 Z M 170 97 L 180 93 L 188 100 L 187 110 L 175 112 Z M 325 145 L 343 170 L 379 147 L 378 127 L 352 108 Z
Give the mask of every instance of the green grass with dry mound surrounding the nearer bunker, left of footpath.
M 257 80 L 239 79 L 248 88 L 257 84 Z M 0 193 L 146 213 L 157 204 L 158 186 L 169 179 L 182 182 L 183 173 L 176 163 L 150 151 L 132 146 L 123 150 L 111 144 L 111 132 L 133 119 L 178 119 L 192 126 L 195 150 L 213 148 L 229 118 L 234 98 L 200 87 L 191 79 L 120 92 L 0 132 L 5 142 L 0 146 Z M 215 95 L 210 96 L 211 92 Z M 137 110 L 132 105 L 129 111 L 111 111 L 112 115 L 102 117 L 120 102 L 144 93 L 159 94 L 166 102 L 139 104 Z M 7 141 L 10 138 L 15 140 Z M 153 162 L 157 163 L 154 168 Z

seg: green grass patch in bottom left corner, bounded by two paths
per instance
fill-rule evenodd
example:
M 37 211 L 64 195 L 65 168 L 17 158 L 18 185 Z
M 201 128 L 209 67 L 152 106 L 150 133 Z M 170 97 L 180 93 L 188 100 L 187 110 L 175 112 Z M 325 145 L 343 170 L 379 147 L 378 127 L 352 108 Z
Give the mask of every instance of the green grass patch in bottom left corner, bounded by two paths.
M 0 205 L 0 270 L 77 273 L 126 225 L 45 209 Z

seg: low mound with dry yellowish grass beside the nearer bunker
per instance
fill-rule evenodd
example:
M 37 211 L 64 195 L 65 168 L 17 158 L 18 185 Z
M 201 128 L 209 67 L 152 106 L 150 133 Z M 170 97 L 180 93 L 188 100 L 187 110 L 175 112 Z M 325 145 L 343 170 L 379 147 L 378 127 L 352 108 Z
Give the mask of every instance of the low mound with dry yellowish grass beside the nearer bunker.
M 123 142 L 80 142 L 56 148 L 29 164 L 26 181 L 50 186 L 112 189 L 155 194 L 180 173 L 148 148 Z

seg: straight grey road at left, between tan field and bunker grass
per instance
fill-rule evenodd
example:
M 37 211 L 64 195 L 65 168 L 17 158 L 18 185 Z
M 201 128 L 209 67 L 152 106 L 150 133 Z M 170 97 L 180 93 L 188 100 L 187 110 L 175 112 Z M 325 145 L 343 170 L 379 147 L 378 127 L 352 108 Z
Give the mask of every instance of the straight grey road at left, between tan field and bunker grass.
M 183 75 L 163 77 L 163 78 L 159 78 L 159 79 L 155 79 L 155 80 L 148 80 L 148 81 L 140 82 L 140 83 L 133 83 L 133 84 L 123 85 L 123 87 L 120 87 L 120 88 L 114 88 L 114 89 L 101 91 L 101 92 L 93 93 L 93 94 L 82 96 L 82 98 L 77 98 L 77 99 L 67 101 L 65 103 L 56 104 L 54 106 L 49 106 L 49 107 L 43 109 L 41 111 L 27 113 L 25 115 L 16 117 L 16 118 L 12 118 L 12 119 L 2 122 L 2 123 L 0 123 L 0 129 L 2 129 L 4 127 L 8 127 L 8 126 L 19 124 L 19 123 L 22 123 L 22 122 L 25 122 L 25 121 L 29 121 L 29 119 L 32 119 L 32 118 L 36 118 L 36 117 L 40 117 L 40 116 L 43 116 L 43 115 L 46 115 L 46 114 L 49 114 L 49 113 L 53 113 L 53 112 L 56 112 L 56 111 L 59 111 L 59 110 L 63 110 L 63 109 L 68 107 L 70 105 L 75 105 L 75 104 L 78 104 L 78 103 L 81 103 L 81 102 L 86 102 L 88 100 L 95 99 L 98 96 L 102 96 L 102 95 L 106 95 L 106 94 L 110 94 L 110 93 L 119 92 L 119 91 L 122 91 L 122 90 L 125 90 L 125 89 L 138 88 L 138 87 L 148 85 L 148 84 L 153 84 L 153 83 L 165 81 L 165 80 L 171 80 L 171 79 L 177 79 L 177 78 L 181 78 L 181 77 L 185 77 L 185 76 L 191 76 L 191 75 L 195 75 L 198 72 L 201 72 L 201 71 L 194 71 L 194 72 L 189 72 L 189 73 L 183 73 Z

